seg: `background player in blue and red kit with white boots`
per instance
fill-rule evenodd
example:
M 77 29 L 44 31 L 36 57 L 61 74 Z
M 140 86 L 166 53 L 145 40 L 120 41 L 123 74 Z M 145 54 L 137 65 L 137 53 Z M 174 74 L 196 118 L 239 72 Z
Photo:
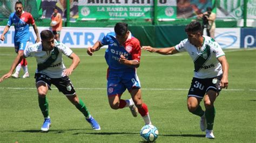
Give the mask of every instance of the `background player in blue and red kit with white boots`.
M 18 54 L 15 60 L 18 60 L 23 57 L 23 51 L 29 44 L 29 26 L 33 26 L 33 29 L 36 33 L 37 39 L 36 42 L 40 41 L 38 29 L 33 19 L 32 15 L 29 12 L 23 11 L 22 2 L 15 3 L 15 12 L 12 12 L 7 25 L 4 28 L 3 34 L 1 35 L 1 40 L 4 41 L 4 35 L 9 31 L 10 26 L 14 24 L 15 34 L 14 34 L 14 47 L 15 52 Z M 21 63 L 16 67 L 16 71 L 13 75 L 14 78 L 18 78 L 19 71 L 23 68 L 24 75 L 23 78 L 29 77 L 28 71 L 28 62 L 26 59 L 23 59 Z

